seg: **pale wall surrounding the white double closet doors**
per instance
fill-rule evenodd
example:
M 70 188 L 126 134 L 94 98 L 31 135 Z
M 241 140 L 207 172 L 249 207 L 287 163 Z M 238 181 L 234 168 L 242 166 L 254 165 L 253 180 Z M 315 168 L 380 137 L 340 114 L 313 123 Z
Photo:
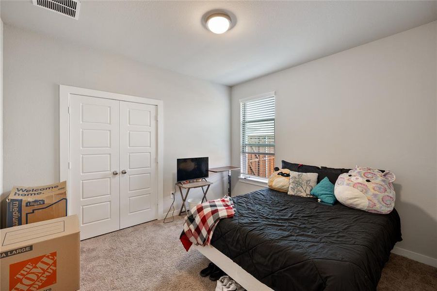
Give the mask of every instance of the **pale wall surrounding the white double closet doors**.
M 59 84 L 163 100 L 165 213 L 177 158 L 209 156 L 211 167 L 230 162 L 227 86 L 9 25 L 4 26 L 4 56 L 4 194 L 13 185 L 59 180 Z M 223 196 L 226 175 L 210 180 L 209 198 Z M 191 193 L 200 196 L 200 191 Z

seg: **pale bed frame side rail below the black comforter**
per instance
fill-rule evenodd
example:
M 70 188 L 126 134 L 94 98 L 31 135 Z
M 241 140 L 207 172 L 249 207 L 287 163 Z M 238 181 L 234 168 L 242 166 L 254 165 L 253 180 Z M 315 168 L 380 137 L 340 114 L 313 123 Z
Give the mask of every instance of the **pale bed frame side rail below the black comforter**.
M 254 276 L 243 270 L 238 264 L 225 256 L 222 252 L 211 245 L 200 246 L 192 245 L 193 249 L 198 250 L 202 255 L 207 257 L 211 262 L 216 264 L 227 275 L 238 282 L 247 291 L 273 291 L 267 285 L 261 283 Z

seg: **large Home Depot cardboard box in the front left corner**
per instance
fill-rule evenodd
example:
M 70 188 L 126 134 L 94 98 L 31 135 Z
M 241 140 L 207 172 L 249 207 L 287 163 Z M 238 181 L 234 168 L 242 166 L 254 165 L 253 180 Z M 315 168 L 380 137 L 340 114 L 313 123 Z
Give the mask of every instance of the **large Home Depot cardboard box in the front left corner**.
M 75 291 L 80 288 L 77 215 L 3 228 L 1 291 Z

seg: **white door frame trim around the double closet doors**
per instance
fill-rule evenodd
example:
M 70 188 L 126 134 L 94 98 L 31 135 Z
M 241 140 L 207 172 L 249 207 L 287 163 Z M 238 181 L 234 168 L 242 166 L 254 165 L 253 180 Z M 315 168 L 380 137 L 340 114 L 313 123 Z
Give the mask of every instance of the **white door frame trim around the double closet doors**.
M 156 173 L 157 173 L 157 195 L 158 195 L 158 217 L 163 219 L 163 141 L 164 141 L 164 125 L 163 125 L 163 101 L 145 97 L 137 97 L 92 89 L 85 89 L 73 86 L 59 85 L 59 177 L 60 180 L 67 181 L 67 201 L 70 198 L 70 118 L 69 104 L 70 94 L 83 95 L 96 98 L 113 99 L 118 101 L 128 101 L 134 103 L 156 105 L 157 106 L 157 145 L 156 145 Z M 68 213 L 70 208 L 68 204 Z

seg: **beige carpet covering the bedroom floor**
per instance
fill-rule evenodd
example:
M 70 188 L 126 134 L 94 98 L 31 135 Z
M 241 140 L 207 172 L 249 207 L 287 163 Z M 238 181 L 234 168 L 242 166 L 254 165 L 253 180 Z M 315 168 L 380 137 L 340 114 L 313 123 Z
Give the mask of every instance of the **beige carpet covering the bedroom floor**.
M 198 272 L 209 261 L 185 252 L 179 242 L 183 220 L 153 221 L 81 242 L 81 291 L 212 291 L 215 282 Z M 437 268 L 391 255 L 378 290 L 437 290 Z

